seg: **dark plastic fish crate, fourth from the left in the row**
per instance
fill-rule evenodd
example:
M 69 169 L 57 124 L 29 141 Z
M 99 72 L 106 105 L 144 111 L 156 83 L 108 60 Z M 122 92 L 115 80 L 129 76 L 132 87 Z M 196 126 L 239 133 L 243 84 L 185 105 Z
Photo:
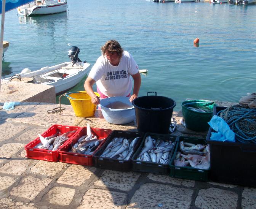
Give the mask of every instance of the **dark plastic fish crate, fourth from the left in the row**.
M 174 142 L 173 149 L 171 150 L 171 153 L 168 158 L 168 163 L 162 164 L 162 163 L 155 163 L 155 162 L 149 162 L 149 161 L 140 161 L 136 160 L 138 158 L 139 153 L 141 152 L 141 149 L 144 147 L 144 141 L 147 136 L 151 136 L 155 139 L 162 139 L 163 141 L 172 141 Z M 133 167 L 133 171 L 140 171 L 140 172 L 146 172 L 146 173 L 154 173 L 154 174 L 163 174 L 168 175 L 170 174 L 170 168 L 169 163 L 171 158 L 173 157 L 174 149 L 176 146 L 176 139 L 177 136 L 171 136 L 171 135 L 163 135 L 163 134 L 155 134 L 155 133 L 146 133 L 144 135 L 143 140 L 141 141 L 141 144 L 137 151 L 134 153 L 133 157 L 131 158 Z

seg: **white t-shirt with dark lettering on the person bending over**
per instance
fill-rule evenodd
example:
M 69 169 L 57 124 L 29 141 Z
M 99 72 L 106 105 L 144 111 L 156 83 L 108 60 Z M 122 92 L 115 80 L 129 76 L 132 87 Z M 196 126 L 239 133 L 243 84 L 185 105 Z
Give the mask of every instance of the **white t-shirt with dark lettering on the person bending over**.
M 126 97 L 133 87 L 131 75 L 138 72 L 138 66 L 131 54 L 123 51 L 118 66 L 111 65 L 101 55 L 91 68 L 89 77 L 96 81 L 101 93 L 107 97 Z

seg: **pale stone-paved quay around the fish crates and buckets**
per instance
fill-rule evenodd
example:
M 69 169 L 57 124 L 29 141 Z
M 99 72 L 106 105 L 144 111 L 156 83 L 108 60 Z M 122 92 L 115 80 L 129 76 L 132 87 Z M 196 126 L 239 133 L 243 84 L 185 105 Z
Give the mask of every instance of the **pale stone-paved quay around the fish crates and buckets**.
M 219 103 L 226 106 L 227 103 Z M 61 115 L 47 114 L 56 104 L 22 102 L 5 111 L 0 103 L 0 208 L 256 208 L 256 188 L 200 182 L 139 172 L 120 172 L 90 166 L 26 158 L 24 145 L 53 124 L 86 126 L 72 106 Z M 173 135 L 205 137 L 179 125 L 173 113 Z M 136 131 L 134 123 L 112 125 L 100 111 L 88 118 L 91 127 Z M 162 204 L 162 207 L 160 204 Z

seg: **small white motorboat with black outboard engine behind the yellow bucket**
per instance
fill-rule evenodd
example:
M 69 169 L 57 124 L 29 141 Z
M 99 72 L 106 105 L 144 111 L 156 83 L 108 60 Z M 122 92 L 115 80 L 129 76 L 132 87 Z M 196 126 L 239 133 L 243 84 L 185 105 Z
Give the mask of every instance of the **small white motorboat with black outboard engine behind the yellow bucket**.
M 21 73 L 3 80 L 54 86 L 56 95 L 60 95 L 76 86 L 90 70 L 90 64 L 86 61 L 82 62 L 78 58 L 79 51 L 78 47 L 72 46 L 68 54 L 71 59 L 70 62 L 43 67 L 35 71 L 25 68 Z

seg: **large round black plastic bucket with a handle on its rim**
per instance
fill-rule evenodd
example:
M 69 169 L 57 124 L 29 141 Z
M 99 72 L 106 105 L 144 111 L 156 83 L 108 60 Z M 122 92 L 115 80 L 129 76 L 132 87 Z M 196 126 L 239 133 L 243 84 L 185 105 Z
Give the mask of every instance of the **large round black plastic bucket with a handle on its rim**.
M 155 95 L 149 96 L 149 93 Z M 137 97 L 132 104 L 139 132 L 168 134 L 173 108 L 176 106 L 173 99 L 157 96 L 157 92 L 147 92 L 147 96 Z

